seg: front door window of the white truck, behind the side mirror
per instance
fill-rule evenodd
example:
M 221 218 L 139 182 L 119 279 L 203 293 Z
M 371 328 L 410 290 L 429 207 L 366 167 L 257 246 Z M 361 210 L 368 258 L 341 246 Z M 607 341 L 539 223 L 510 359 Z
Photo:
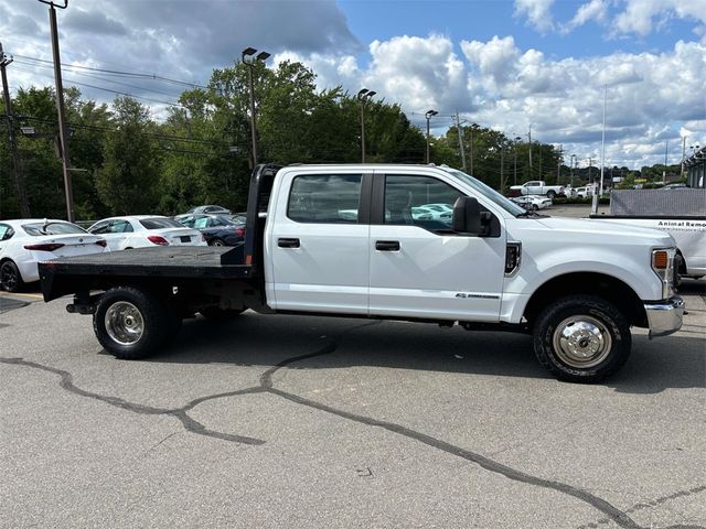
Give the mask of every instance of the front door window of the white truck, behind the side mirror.
M 431 176 L 385 176 L 385 224 L 450 229 L 462 193 Z

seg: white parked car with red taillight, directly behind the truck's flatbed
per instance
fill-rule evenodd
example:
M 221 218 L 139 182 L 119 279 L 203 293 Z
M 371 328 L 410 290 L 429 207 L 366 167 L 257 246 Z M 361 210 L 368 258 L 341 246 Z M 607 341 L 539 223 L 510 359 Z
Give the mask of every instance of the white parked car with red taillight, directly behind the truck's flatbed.
M 201 231 L 158 215 L 132 215 L 98 220 L 88 231 L 105 237 L 111 251 L 151 246 L 206 246 Z

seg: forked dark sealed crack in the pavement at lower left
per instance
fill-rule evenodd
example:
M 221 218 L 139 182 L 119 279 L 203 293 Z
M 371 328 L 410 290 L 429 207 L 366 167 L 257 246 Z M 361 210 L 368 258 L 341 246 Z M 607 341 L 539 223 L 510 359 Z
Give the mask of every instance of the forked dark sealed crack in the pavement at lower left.
M 104 402 L 106 404 L 113 406 L 115 408 L 120 408 L 122 410 L 126 411 L 130 411 L 132 413 L 138 413 L 138 414 L 142 414 L 142 415 L 168 415 L 168 417 L 174 417 L 175 419 L 179 419 L 179 421 L 181 421 L 182 425 L 184 427 L 184 429 L 189 432 L 192 433 L 196 433 L 199 435 L 205 435 L 207 438 L 215 438 L 215 439 L 221 439 L 224 441 L 231 441 L 231 442 L 235 442 L 235 443 L 240 443 L 240 444 L 265 444 L 265 441 L 263 441 L 261 439 L 255 439 L 255 438 L 248 438 L 245 435 L 234 435 L 231 433 L 226 433 L 226 432 L 218 432 L 215 430 L 210 430 L 206 427 L 204 427 L 203 424 L 201 424 L 199 421 L 192 419 L 191 417 L 189 417 L 188 411 L 190 409 L 192 409 L 194 406 L 196 406 L 196 403 L 194 403 L 194 401 L 190 402 L 189 404 L 182 407 L 182 408 L 178 408 L 178 409 L 165 409 L 165 408 L 154 408 L 151 406 L 145 406 L 145 404 L 140 404 L 137 402 L 130 402 L 127 401 L 125 399 L 121 399 L 119 397 L 113 397 L 113 396 L 106 396 L 106 395 L 100 395 L 100 393 L 96 393 L 94 391 L 87 391 L 83 388 L 79 388 L 78 386 L 76 386 L 74 384 L 74 377 L 71 373 L 65 371 L 63 369 L 57 369 L 55 367 L 50 367 L 50 366 L 44 366 L 42 364 L 38 364 L 35 361 L 30 361 L 30 360 L 25 360 L 23 358 L 2 358 L 0 357 L 0 364 L 9 364 L 9 365 L 13 365 L 13 366 L 24 366 L 24 367 L 30 367 L 32 369 L 39 369 L 42 371 L 47 371 L 54 375 L 58 375 L 60 378 L 60 387 L 66 391 L 68 391 L 69 393 L 73 395 L 77 395 L 79 397 L 84 397 L 84 398 L 88 398 L 88 399 L 93 399 L 93 400 L 98 400 L 100 402 Z M 253 388 L 254 390 L 256 389 L 257 391 L 259 391 L 259 388 Z M 248 391 L 248 390 L 245 390 Z M 243 391 L 235 391 L 235 393 L 242 393 Z M 254 391 L 253 391 L 254 392 Z M 205 400 L 208 399 L 213 399 L 213 398 L 218 398 L 223 395 L 227 395 L 227 393 L 218 393 L 215 396 L 211 396 L 211 397 L 202 397 L 200 399 L 196 399 L 196 401 L 199 402 L 203 402 Z

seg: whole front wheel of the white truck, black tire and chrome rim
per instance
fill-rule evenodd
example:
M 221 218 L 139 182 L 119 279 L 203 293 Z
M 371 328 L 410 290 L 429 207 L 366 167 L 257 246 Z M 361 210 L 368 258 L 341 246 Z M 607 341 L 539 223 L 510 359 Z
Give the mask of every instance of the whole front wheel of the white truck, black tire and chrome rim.
M 534 324 L 534 352 L 556 378 L 593 384 L 630 356 L 630 324 L 611 303 L 592 295 L 563 298 Z

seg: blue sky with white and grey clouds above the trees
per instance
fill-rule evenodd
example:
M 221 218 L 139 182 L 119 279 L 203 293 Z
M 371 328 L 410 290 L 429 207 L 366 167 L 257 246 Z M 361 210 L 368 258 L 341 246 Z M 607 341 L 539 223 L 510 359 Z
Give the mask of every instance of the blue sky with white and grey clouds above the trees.
M 434 134 L 458 111 L 577 166 L 601 159 L 603 108 L 605 165 L 706 144 L 706 0 L 69 0 L 58 26 L 65 86 L 138 96 L 156 118 L 252 46 L 321 89 L 375 90 L 419 127 L 435 109 Z M 11 90 L 53 84 L 44 3 L 0 0 L 0 42 Z

